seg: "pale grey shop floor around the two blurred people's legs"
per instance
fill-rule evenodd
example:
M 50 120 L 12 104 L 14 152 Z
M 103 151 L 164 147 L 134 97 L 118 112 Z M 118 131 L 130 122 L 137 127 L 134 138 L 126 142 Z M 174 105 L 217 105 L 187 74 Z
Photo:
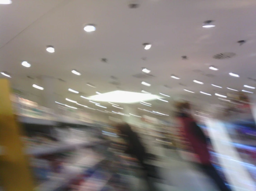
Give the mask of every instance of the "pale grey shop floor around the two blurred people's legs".
M 148 143 L 151 141 L 147 141 Z M 159 176 L 163 178 L 161 183 L 155 182 L 159 191 L 218 191 L 211 180 L 196 169 L 191 163 L 184 161 L 179 154 L 170 149 L 152 143 L 150 152 L 158 155 L 158 161 L 148 161 L 156 165 Z M 129 177 L 131 190 L 147 191 L 145 181 L 136 177 Z

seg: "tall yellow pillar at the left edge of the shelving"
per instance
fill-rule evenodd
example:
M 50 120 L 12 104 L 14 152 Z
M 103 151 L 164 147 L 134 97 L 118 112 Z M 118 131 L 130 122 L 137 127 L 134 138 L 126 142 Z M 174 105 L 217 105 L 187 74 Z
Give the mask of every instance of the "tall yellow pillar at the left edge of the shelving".
M 15 120 L 10 100 L 10 84 L 0 79 L 0 180 L 5 191 L 32 191 L 33 179 L 20 140 L 21 130 Z

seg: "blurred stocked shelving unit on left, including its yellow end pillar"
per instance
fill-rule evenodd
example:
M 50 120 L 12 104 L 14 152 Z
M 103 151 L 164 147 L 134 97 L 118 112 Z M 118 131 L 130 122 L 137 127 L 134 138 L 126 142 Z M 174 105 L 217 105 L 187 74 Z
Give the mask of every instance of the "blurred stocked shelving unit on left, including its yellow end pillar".
M 77 118 L 54 117 L 36 118 L 28 115 L 15 115 L 10 100 L 10 84 L 6 79 L 0 79 L 0 180 L 4 191 L 61 191 L 86 190 L 86 186 L 98 180 L 95 191 L 101 191 L 112 180 L 117 170 L 111 169 L 112 165 L 106 162 L 119 160 L 113 153 L 107 152 L 108 141 L 103 139 L 99 124 L 79 120 Z M 54 144 L 33 145 L 24 148 L 21 135 L 27 131 L 44 132 L 52 135 L 52 129 L 59 127 L 74 127 L 79 130 L 88 130 L 93 138 L 86 140 L 72 139 L 69 141 L 53 141 Z M 2 149 L 3 148 L 3 149 Z M 71 156 L 69 155 L 71 152 Z M 86 154 L 81 154 L 85 152 Z M 88 154 L 89 152 L 89 154 Z M 110 154 L 109 154 L 110 153 Z M 31 159 L 56 157 L 58 154 L 67 154 L 67 159 L 58 173 L 53 173 L 46 180 L 35 181 L 35 172 L 31 166 Z M 106 166 L 108 168 L 106 168 Z M 105 169 L 106 168 L 106 169 Z M 100 169 L 100 170 L 99 170 Z M 102 170 L 104 169 L 104 170 Z M 101 171 L 101 172 L 98 172 Z M 104 176 L 102 175 L 104 174 Z M 80 185 L 74 183 L 83 181 Z M 15 181 L 15 182 L 14 182 Z M 108 185 L 108 187 L 110 187 Z

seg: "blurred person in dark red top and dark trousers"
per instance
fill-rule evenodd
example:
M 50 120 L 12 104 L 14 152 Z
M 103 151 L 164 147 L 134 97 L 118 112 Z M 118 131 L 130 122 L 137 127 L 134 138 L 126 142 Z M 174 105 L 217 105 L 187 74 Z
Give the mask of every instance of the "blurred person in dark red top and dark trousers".
M 190 104 L 188 102 L 179 102 L 176 103 L 176 108 L 178 110 L 176 118 L 183 128 L 184 137 L 198 156 L 199 163 L 197 165 L 215 182 L 221 191 L 230 191 L 211 163 L 211 157 L 207 147 L 207 138 L 202 129 L 191 117 Z

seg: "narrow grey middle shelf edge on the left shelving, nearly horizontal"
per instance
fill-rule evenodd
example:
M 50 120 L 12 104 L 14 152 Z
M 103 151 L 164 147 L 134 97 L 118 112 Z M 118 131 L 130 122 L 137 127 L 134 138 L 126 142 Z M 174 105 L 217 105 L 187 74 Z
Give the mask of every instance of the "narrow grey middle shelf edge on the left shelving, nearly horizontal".
M 29 155 L 40 156 L 40 155 L 64 152 L 64 151 L 76 149 L 78 147 L 91 147 L 97 144 L 101 144 L 103 142 L 104 142 L 103 140 L 98 140 L 98 141 L 91 141 L 91 142 L 62 144 L 54 147 L 45 146 L 40 148 L 27 149 L 26 153 Z

